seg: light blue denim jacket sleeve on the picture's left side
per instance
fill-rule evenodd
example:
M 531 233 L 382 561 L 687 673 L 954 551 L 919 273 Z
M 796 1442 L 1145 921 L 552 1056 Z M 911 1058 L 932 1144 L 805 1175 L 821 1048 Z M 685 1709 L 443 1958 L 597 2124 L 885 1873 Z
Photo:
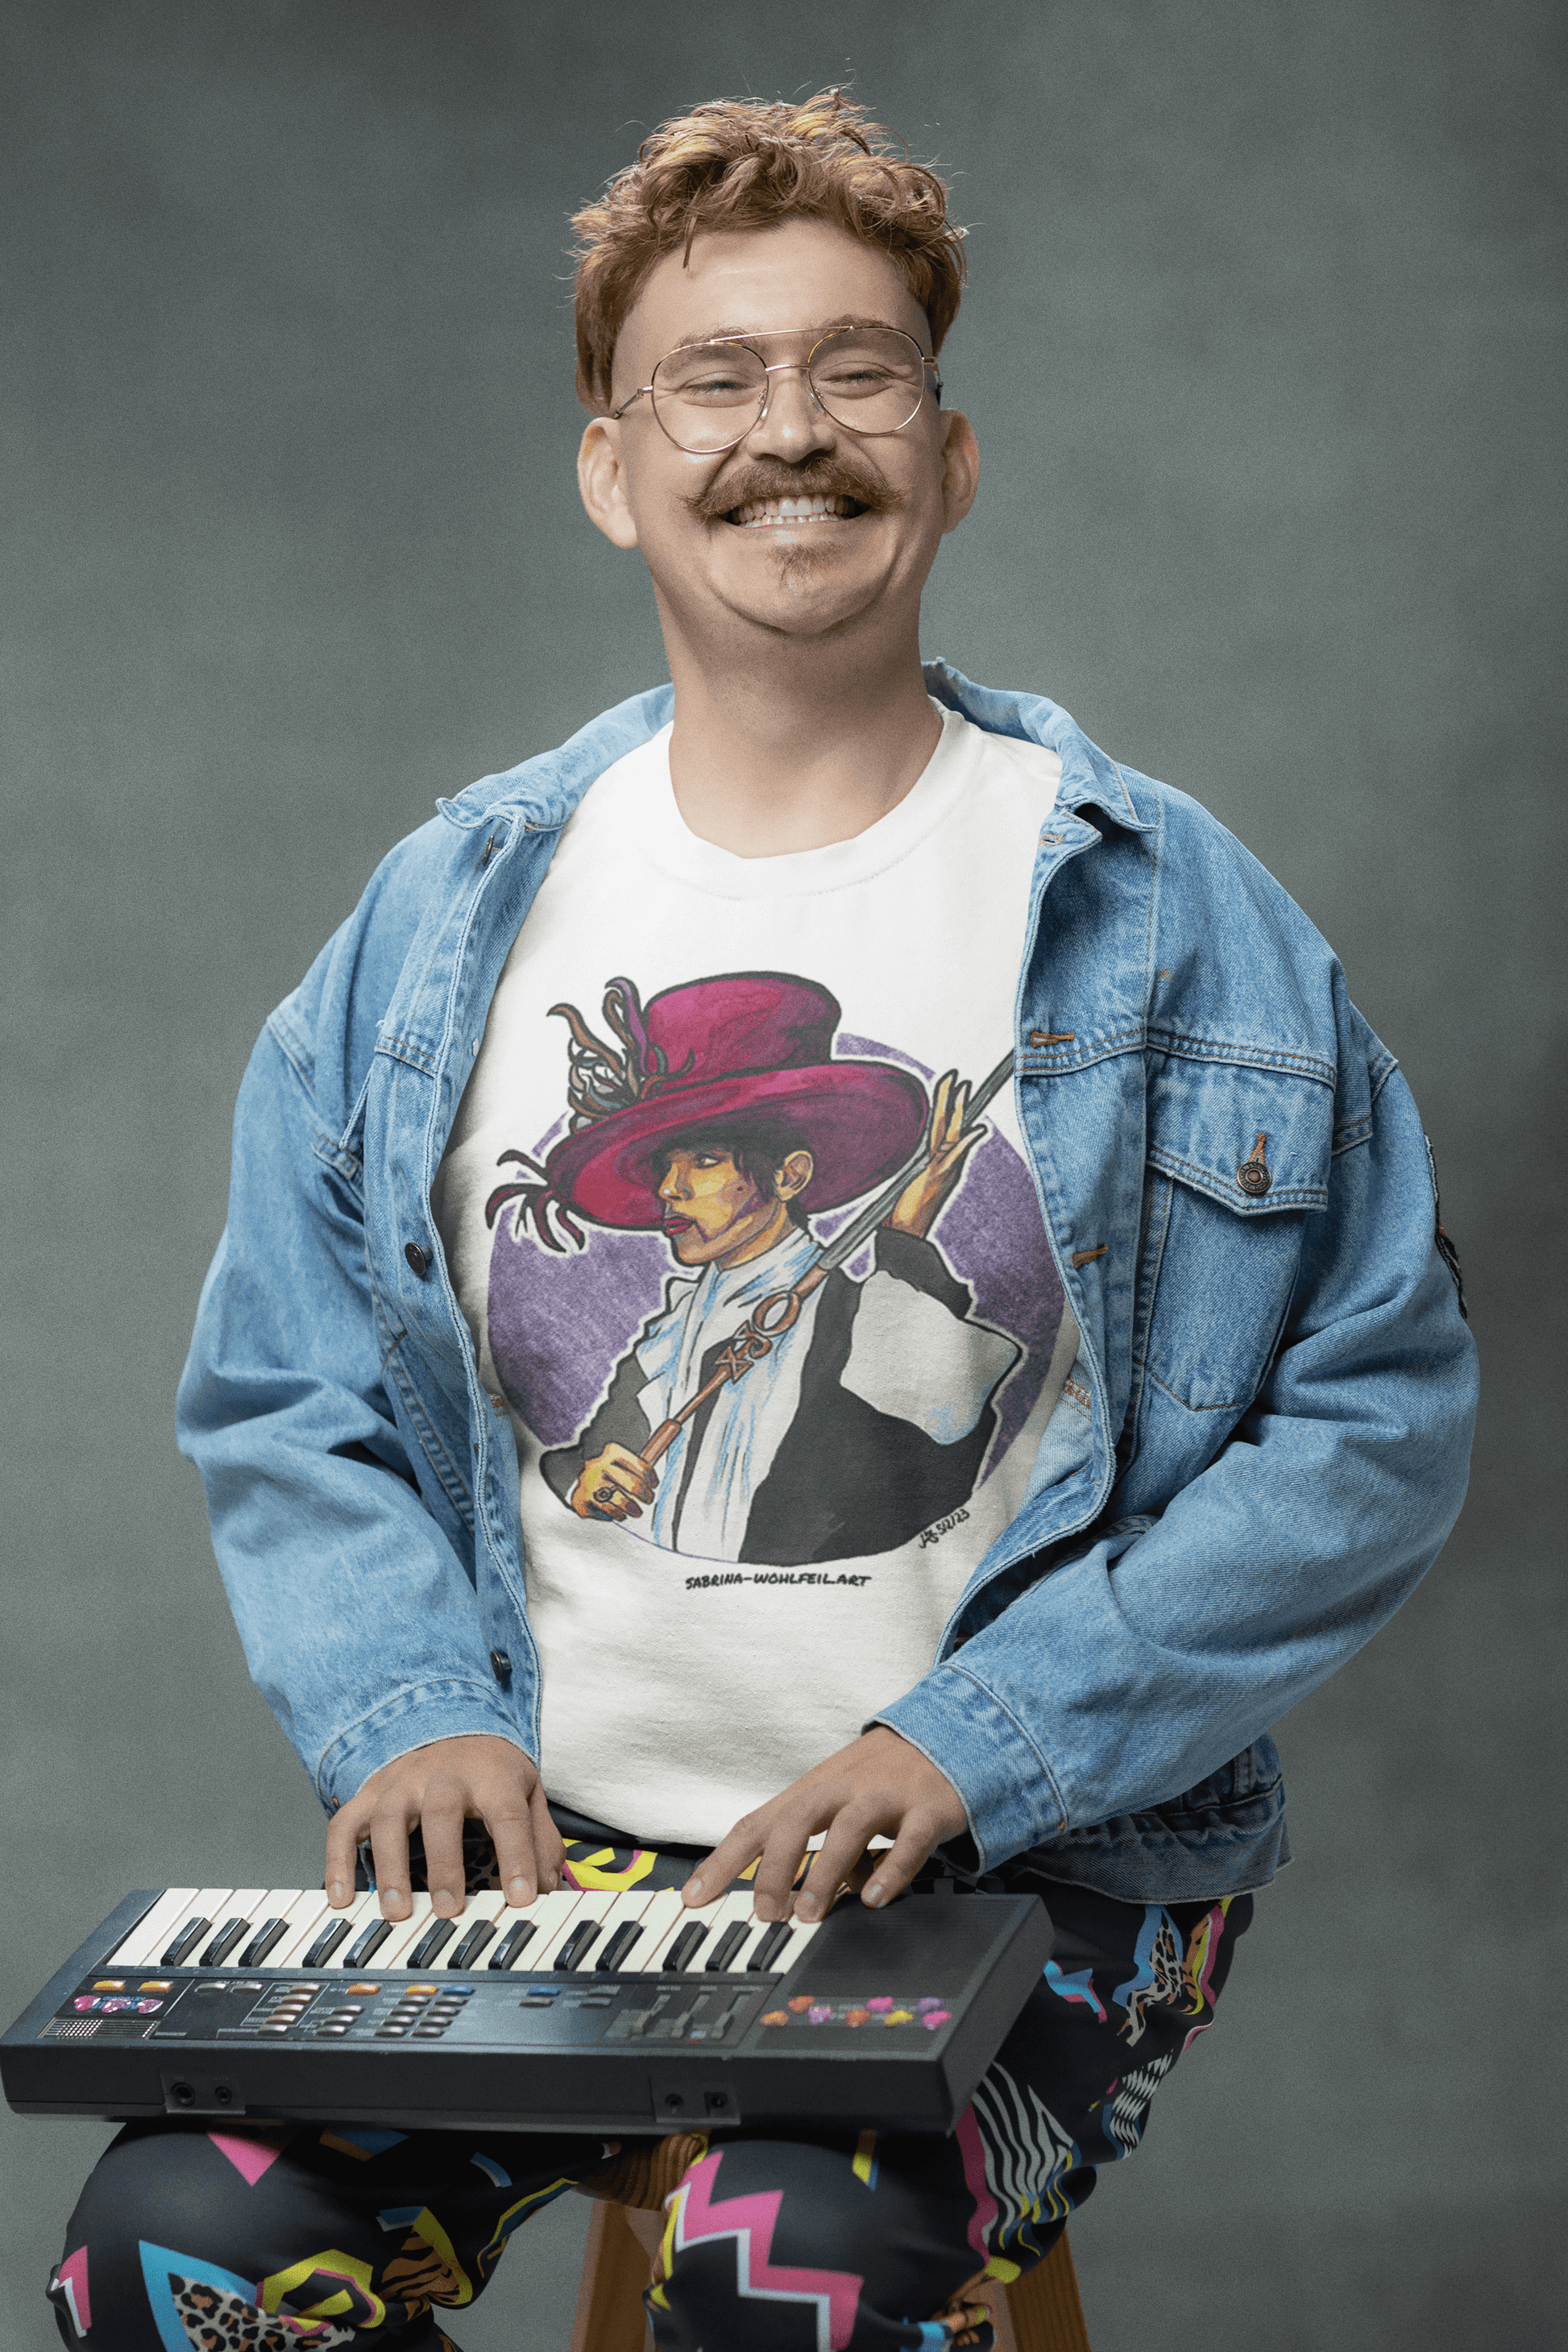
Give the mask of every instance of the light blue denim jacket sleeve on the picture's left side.
M 240 1089 L 179 1444 L 252 1679 L 327 1804 L 428 1740 L 527 1745 L 489 1672 L 465 1531 L 421 1498 L 383 1371 L 357 1167 L 275 1021 Z

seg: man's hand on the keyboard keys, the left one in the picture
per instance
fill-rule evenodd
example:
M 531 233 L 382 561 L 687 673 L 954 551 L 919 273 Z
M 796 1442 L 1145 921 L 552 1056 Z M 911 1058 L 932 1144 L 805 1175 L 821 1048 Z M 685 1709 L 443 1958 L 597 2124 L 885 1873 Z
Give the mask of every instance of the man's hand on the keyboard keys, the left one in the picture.
M 463 1910 L 463 1820 L 482 1820 L 496 1844 L 505 1900 L 524 1907 L 559 1886 L 567 1858 L 536 1766 L 510 1740 L 475 1731 L 393 1757 L 339 1806 L 327 1830 L 327 1900 L 355 1898 L 355 1846 L 369 1837 L 383 1919 L 407 1919 L 409 1830 L 425 1842 L 425 1882 L 437 1919 Z

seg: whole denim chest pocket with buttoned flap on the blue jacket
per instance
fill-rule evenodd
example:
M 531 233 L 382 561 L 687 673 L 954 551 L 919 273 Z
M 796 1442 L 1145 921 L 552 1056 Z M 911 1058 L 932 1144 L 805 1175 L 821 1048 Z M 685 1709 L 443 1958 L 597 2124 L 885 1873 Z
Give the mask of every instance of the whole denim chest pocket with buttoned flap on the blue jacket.
M 1190 1411 L 1239 1414 L 1258 1395 L 1331 1152 L 1328 1065 L 1168 1054 L 1150 1073 L 1135 1350 Z

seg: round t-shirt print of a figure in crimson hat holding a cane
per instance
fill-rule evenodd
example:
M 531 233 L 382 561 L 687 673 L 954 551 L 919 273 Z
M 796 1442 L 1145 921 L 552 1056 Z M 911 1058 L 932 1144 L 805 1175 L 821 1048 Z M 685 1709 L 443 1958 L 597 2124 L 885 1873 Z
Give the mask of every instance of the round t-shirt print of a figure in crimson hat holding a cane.
M 564 1108 L 501 1152 L 489 1352 L 562 1512 L 712 1562 L 938 1541 L 1041 1392 L 1060 1287 L 985 1122 L 1011 1080 L 790 971 L 555 1004 Z M 1020 1268 L 1039 1279 L 1018 1282 Z

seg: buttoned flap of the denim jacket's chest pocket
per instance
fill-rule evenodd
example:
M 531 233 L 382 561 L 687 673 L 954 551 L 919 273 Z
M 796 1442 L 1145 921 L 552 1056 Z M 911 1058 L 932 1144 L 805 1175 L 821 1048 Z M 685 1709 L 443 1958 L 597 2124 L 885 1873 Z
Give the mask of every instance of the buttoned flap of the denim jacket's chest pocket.
M 1168 1054 L 1150 1077 L 1147 1101 L 1147 1160 L 1164 1176 L 1237 1216 L 1328 1207 L 1328 1080 Z

